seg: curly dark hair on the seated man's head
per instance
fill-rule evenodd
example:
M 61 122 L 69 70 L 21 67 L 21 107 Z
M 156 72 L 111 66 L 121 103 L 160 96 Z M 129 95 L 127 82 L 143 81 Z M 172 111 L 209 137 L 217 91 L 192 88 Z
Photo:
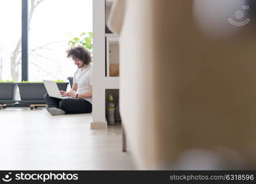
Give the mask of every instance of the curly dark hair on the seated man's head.
M 68 54 L 68 58 L 80 59 L 86 65 L 89 64 L 90 61 L 92 61 L 92 56 L 90 56 L 89 50 L 82 46 L 70 48 L 66 51 L 66 53 Z

